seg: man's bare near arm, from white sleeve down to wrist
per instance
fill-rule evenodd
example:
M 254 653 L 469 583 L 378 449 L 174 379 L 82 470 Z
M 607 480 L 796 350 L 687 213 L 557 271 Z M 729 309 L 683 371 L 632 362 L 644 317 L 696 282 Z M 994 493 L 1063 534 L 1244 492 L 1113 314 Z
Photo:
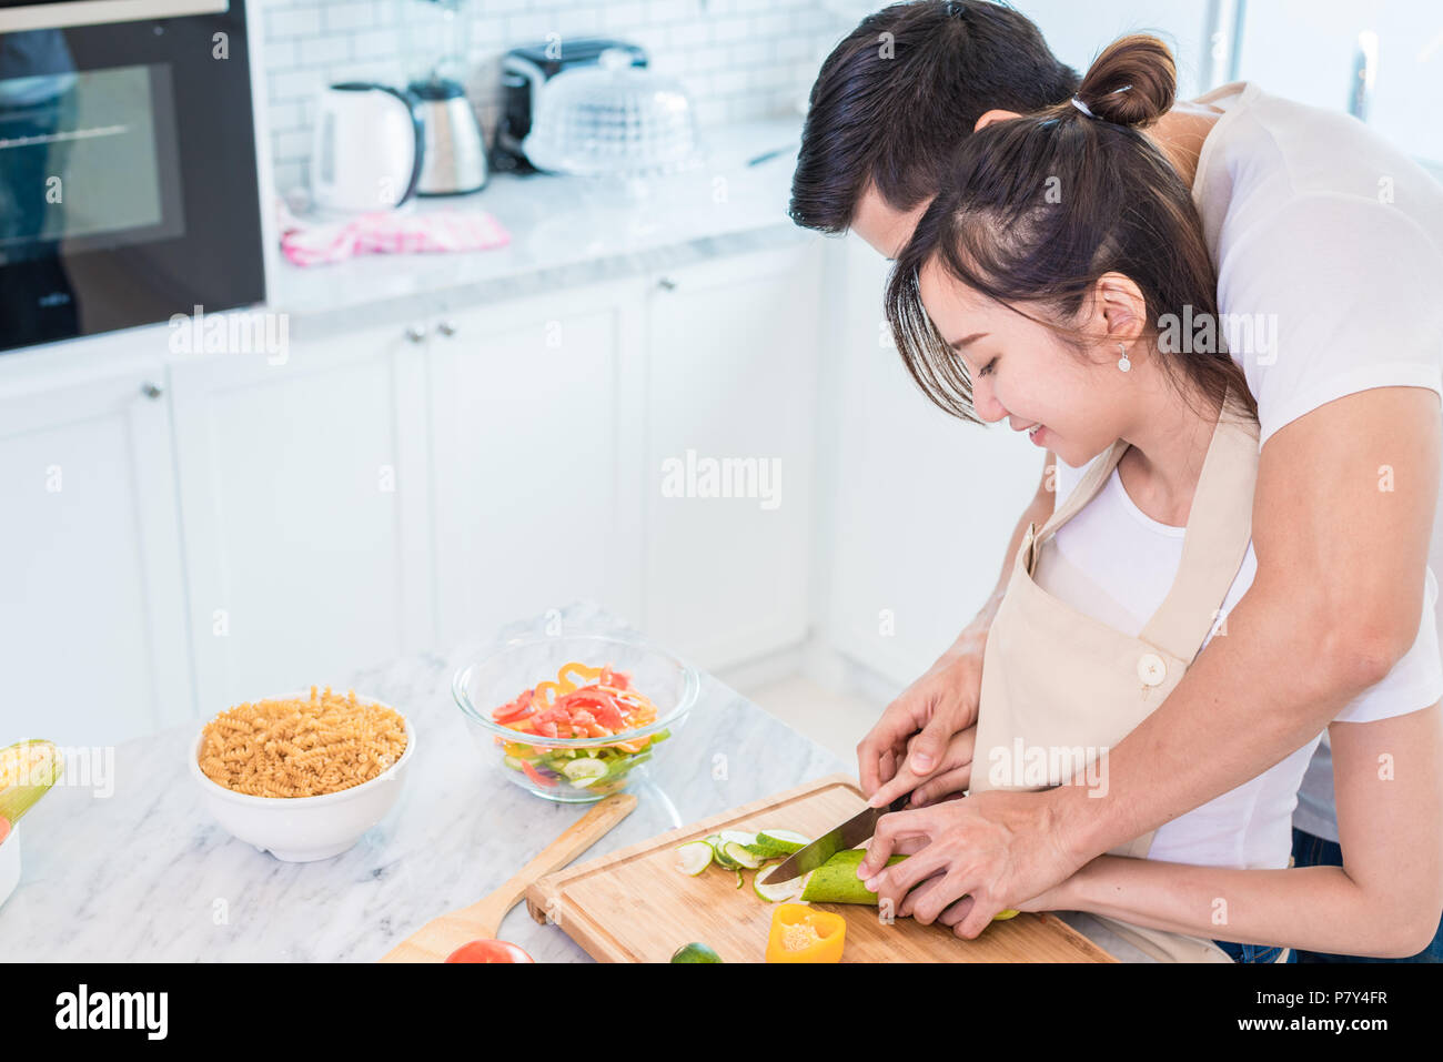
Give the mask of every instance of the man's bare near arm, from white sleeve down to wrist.
M 1423 612 L 1440 437 L 1436 392 L 1378 388 L 1268 440 L 1253 509 L 1257 576 L 1225 632 L 1108 752 L 1107 796 L 1046 794 L 1076 864 L 1263 773 L 1407 652 Z

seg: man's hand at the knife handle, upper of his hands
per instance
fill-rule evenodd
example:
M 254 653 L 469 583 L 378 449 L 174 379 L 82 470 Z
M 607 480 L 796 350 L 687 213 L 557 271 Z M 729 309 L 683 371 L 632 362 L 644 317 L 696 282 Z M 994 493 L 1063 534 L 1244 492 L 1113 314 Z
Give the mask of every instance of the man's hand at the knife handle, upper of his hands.
M 981 646 L 954 649 L 887 706 L 857 745 L 861 792 L 872 807 L 890 804 L 926 779 L 934 779 L 929 799 L 967 788 L 971 737 L 960 734 L 975 733 L 981 681 Z

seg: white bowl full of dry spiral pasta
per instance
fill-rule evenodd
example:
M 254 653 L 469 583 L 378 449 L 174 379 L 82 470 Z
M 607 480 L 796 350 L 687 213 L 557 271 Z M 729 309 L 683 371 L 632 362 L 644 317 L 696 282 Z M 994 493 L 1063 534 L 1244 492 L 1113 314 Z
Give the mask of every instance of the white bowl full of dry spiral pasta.
M 287 863 L 339 856 L 401 795 L 411 721 L 388 704 L 316 687 L 240 704 L 190 746 L 190 776 L 228 833 Z

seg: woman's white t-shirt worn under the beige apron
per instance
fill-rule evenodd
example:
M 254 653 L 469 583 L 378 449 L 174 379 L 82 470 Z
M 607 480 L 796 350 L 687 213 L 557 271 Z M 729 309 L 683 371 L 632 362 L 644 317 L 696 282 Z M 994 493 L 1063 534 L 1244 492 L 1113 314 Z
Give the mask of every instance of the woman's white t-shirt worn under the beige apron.
M 1081 476 L 1081 469 L 1058 462 L 1058 505 Z M 1114 469 L 1097 496 L 1042 545 L 1033 577 L 1053 597 L 1136 638 L 1172 589 L 1185 534 L 1186 528 L 1160 524 L 1139 509 Z M 1219 636 L 1227 613 L 1255 574 L 1257 557 L 1250 544 L 1208 641 Z M 1443 697 L 1436 600 L 1437 583 L 1429 570 L 1413 648 L 1338 719 L 1367 723 L 1416 711 Z M 1147 857 L 1196 866 L 1286 867 L 1293 847 L 1294 796 L 1315 747 L 1317 737 L 1237 789 L 1165 822 Z

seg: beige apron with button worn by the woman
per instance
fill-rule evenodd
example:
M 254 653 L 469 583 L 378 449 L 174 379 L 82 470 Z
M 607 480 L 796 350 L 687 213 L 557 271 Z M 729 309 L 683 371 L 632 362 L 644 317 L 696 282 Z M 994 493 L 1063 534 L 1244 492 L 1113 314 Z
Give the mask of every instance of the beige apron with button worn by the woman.
M 1046 789 L 1074 775 L 1101 792 L 1102 750 L 1163 703 L 1218 620 L 1251 538 L 1258 465 L 1257 424 L 1227 403 L 1198 479 L 1176 579 L 1137 638 L 1033 582 L 1042 544 L 1097 495 L 1127 447 L 1120 439 L 1095 460 L 1042 531 L 1027 527 L 987 635 L 971 792 Z M 1149 833 L 1110 854 L 1140 859 L 1152 843 Z M 1160 961 L 1232 961 L 1211 939 L 1094 918 Z

